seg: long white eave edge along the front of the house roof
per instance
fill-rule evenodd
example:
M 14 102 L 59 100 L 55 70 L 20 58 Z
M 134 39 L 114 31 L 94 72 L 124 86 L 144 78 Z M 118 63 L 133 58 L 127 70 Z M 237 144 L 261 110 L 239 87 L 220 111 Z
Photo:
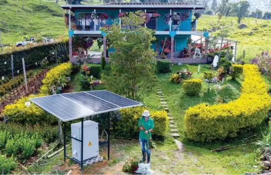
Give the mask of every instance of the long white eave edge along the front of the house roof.
M 204 5 L 61 5 L 64 9 L 72 8 L 174 8 L 204 9 Z

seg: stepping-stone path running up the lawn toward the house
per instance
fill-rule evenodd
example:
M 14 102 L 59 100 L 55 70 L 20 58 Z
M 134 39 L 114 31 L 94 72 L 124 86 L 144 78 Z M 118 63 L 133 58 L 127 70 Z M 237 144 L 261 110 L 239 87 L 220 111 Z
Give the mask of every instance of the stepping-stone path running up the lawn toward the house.
M 168 119 L 169 119 L 169 123 L 170 123 L 170 125 L 169 125 L 169 127 L 170 127 L 170 131 L 172 132 L 171 133 L 171 135 L 173 136 L 173 137 L 180 137 L 180 134 L 178 133 L 178 130 L 176 129 L 177 128 L 177 126 L 175 125 L 175 122 L 174 122 L 174 118 L 171 116 L 171 114 L 169 113 L 169 109 L 167 108 L 167 103 L 166 103 L 166 100 L 164 99 L 164 95 L 163 95 L 163 92 L 162 92 L 162 90 L 161 90 L 161 88 L 160 87 L 157 87 L 157 94 L 158 94 L 158 98 L 160 99 L 160 104 L 161 104 L 161 107 L 165 110 L 165 111 L 167 111 L 167 117 L 168 117 Z M 177 146 L 179 147 L 180 146 L 180 141 L 178 141 L 178 140 L 175 140 L 175 142 L 176 142 L 176 144 L 177 144 Z M 179 143 L 180 142 L 180 143 Z M 179 147 L 179 149 L 180 150 L 182 150 L 180 147 Z

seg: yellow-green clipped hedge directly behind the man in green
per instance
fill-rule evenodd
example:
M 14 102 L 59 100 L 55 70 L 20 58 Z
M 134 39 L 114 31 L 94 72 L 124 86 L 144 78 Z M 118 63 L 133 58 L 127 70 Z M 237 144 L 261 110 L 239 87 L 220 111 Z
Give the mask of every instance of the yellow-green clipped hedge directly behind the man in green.
M 126 138 L 138 138 L 139 130 L 137 127 L 140 117 L 145 109 L 143 107 L 121 109 L 121 119 L 116 123 L 115 133 L 117 136 Z M 151 118 L 154 120 L 155 129 L 152 133 L 153 138 L 164 137 L 168 130 L 168 117 L 164 110 L 150 111 Z

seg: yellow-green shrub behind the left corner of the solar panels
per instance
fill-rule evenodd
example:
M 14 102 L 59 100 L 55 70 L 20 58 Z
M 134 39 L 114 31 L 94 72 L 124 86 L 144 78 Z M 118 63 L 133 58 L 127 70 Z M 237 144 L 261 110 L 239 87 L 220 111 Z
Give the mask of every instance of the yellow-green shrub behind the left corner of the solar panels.
M 58 120 L 52 115 L 46 113 L 43 109 L 38 106 L 31 104 L 31 108 L 25 106 L 25 102 L 29 101 L 29 98 L 44 96 L 44 94 L 39 95 L 29 95 L 27 97 L 22 97 L 19 100 L 16 100 L 13 104 L 7 105 L 3 110 L 3 114 L 7 116 L 7 118 L 12 117 L 22 111 L 23 114 L 20 114 L 10 120 L 8 122 L 18 122 L 21 124 L 30 124 L 34 125 L 37 123 L 47 123 L 50 125 L 54 125 L 58 123 Z

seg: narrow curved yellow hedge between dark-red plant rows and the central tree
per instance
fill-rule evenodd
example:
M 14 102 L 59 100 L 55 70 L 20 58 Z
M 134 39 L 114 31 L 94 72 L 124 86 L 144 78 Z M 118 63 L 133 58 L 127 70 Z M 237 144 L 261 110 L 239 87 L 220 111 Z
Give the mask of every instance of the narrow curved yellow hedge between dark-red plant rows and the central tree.
M 45 79 L 43 79 L 43 86 L 40 92 L 43 94 L 49 94 L 51 86 L 55 84 L 57 78 L 61 76 L 70 75 L 72 70 L 72 65 L 70 63 L 63 63 L 59 66 L 52 68 L 47 74 Z

